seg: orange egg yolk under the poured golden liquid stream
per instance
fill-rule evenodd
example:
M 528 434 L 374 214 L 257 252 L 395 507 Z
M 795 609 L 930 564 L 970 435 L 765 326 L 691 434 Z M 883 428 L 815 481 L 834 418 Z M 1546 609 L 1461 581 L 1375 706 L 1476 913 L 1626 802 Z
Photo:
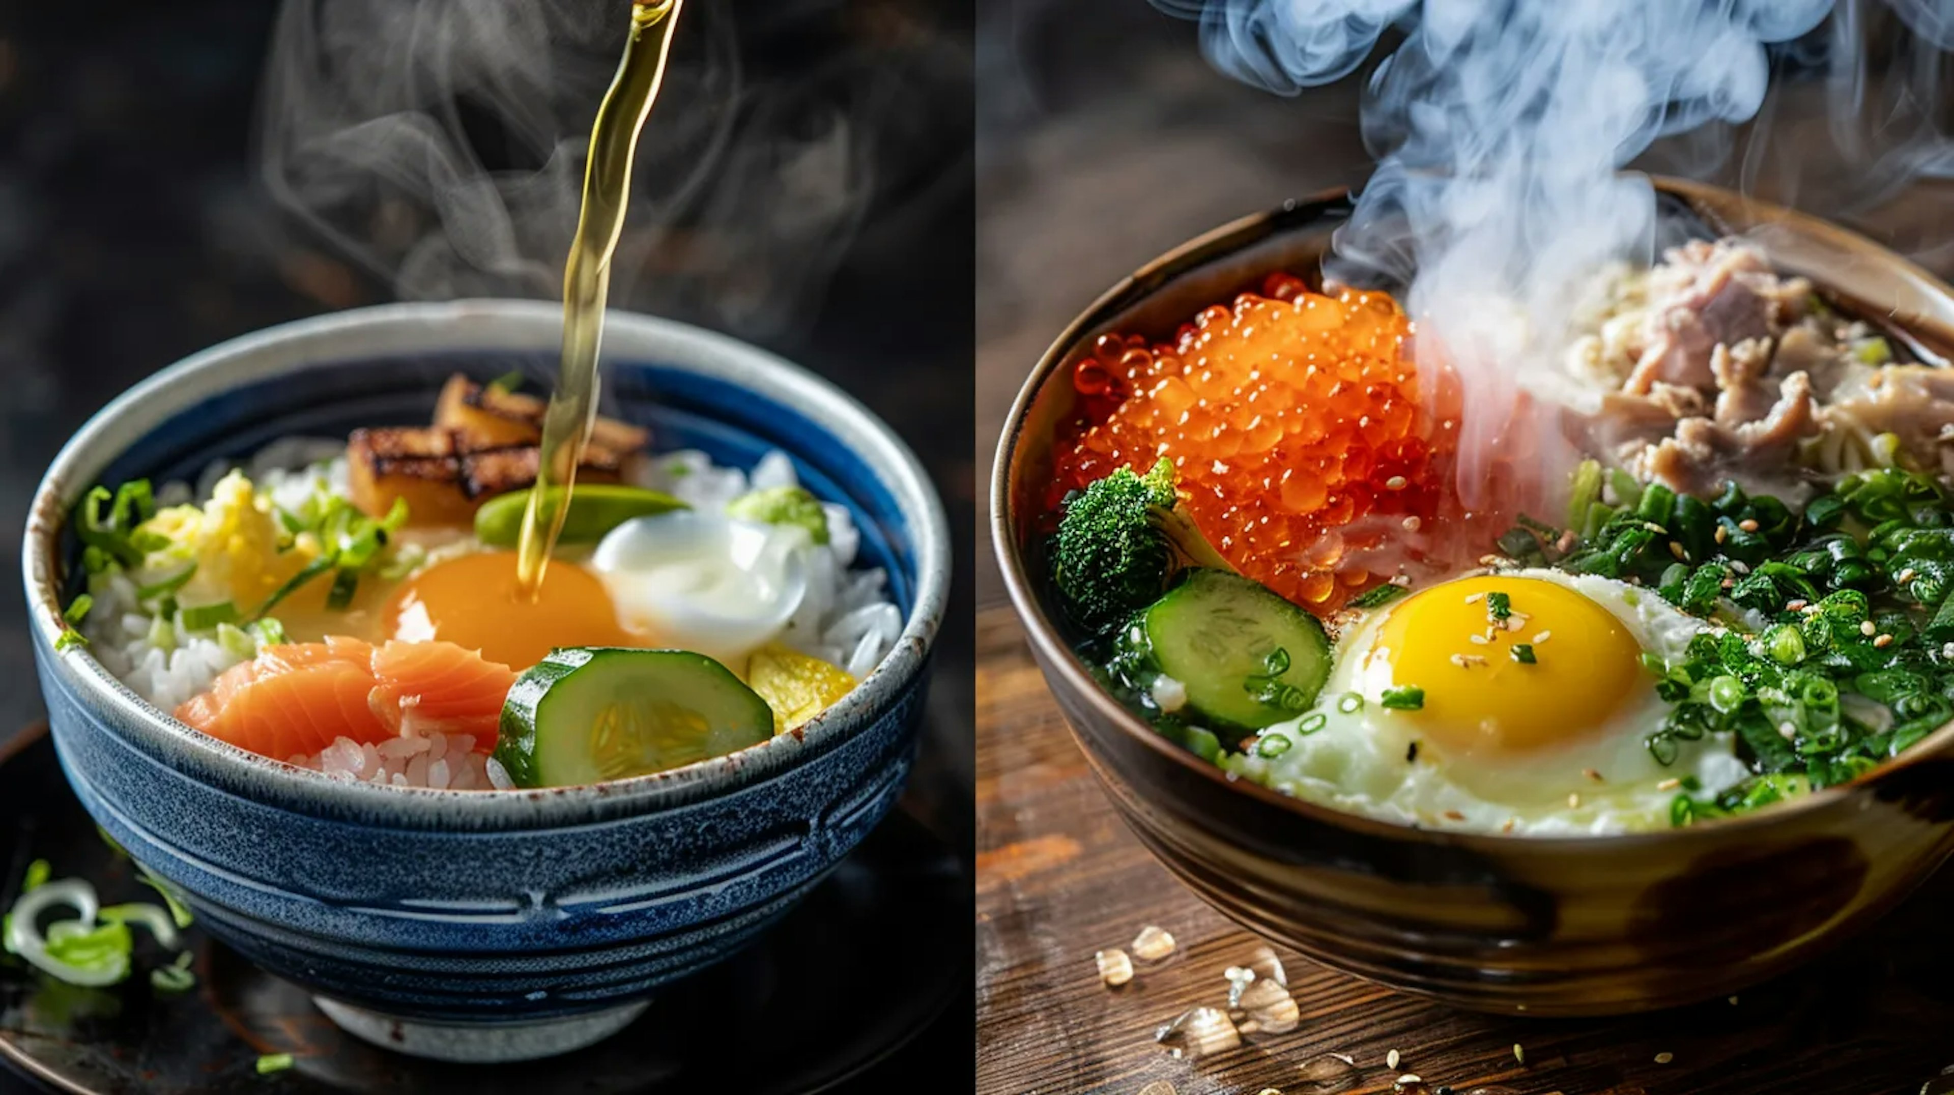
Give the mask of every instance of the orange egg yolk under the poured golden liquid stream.
M 633 645 L 596 575 L 557 559 L 530 600 L 518 592 L 514 551 L 479 551 L 428 567 L 395 591 L 381 626 L 395 639 L 444 639 L 518 671 L 543 661 L 551 647 Z

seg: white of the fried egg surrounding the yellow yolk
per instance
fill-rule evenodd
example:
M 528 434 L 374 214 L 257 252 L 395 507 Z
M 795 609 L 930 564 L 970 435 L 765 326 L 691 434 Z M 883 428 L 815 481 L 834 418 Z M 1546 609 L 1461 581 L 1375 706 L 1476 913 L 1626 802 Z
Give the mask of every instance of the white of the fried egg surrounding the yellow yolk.
M 1710 630 L 1653 591 L 1614 579 L 1553 569 L 1507 573 L 1579 592 L 1620 620 L 1643 651 L 1665 661 L 1682 657 L 1690 639 Z M 1260 749 L 1249 749 L 1227 757 L 1223 766 L 1278 792 L 1387 821 L 1532 835 L 1667 827 L 1677 788 L 1661 786 L 1665 780 L 1696 776 L 1706 792 L 1718 792 L 1749 774 L 1727 733 L 1684 743 L 1673 765 L 1655 761 L 1643 739 L 1661 725 L 1669 704 L 1655 694 L 1653 677 L 1604 727 L 1561 749 L 1501 757 L 1497 765 L 1450 759 L 1421 741 L 1411 718 L 1380 704 L 1391 686 L 1391 665 L 1387 657 L 1366 655 L 1387 614 L 1389 608 L 1380 608 L 1354 618 L 1337 641 L 1317 706 L 1258 735 L 1286 737 L 1288 751 L 1262 757 Z M 1301 733 L 1317 716 L 1323 725 Z

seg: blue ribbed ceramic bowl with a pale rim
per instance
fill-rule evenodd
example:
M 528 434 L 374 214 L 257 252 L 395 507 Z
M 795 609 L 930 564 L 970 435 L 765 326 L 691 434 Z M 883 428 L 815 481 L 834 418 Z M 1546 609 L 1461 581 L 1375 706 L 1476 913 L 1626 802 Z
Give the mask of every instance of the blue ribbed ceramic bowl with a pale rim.
M 533 301 L 358 309 L 225 342 L 96 415 L 49 467 L 23 546 L 41 690 L 88 811 L 199 923 L 350 1030 L 447 1060 L 541 1056 L 625 1025 L 752 941 L 889 811 L 909 776 L 950 581 L 942 503 L 862 405 L 770 354 L 612 313 L 606 403 L 655 448 L 786 450 L 850 506 L 907 626 L 801 733 L 684 768 L 522 792 L 328 780 L 191 731 L 86 651 L 55 651 L 94 483 L 195 479 L 287 434 L 426 422 L 444 377 L 553 375 Z

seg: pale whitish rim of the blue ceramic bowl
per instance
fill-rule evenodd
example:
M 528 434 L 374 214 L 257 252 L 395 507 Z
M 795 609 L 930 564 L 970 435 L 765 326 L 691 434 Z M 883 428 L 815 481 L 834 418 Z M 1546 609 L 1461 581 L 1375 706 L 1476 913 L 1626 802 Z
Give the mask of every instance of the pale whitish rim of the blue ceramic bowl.
M 274 377 L 291 368 L 334 364 L 379 354 L 455 350 L 555 352 L 563 336 L 563 307 L 537 299 L 461 299 L 387 303 L 324 313 L 229 338 L 178 360 L 135 383 L 96 411 L 49 463 L 33 491 L 21 542 L 35 657 L 53 659 L 53 673 L 86 704 L 111 714 L 117 735 L 135 733 L 172 761 L 193 759 L 279 800 L 324 802 L 360 813 L 406 821 L 528 825 L 569 819 L 604 804 L 612 815 L 711 798 L 766 780 L 871 725 L 870 716 L 901 700 L 924 671 L 950 594 L 950 522 L 942 497 L 922 463 L 879 416 L 825 377 L 778 354 L 688 323 L 608 311 L 606 360 L 655 360 L 662 366 L 731 379 L 791 405 L 830 430 L 887 483 L 913 522 L 914 596 L 891 651 L 848 696 L 801 733 L 778 733 L 746 749 L 647 776 L 561 788 L 512 792 L 436 790 L 336 780 L 274 761 L 193 731 L 137 696 L 86 649 L 55 651 L 61 634 L 59 536 L 78 491 L 92 483 L 133 436 L 152 430 L 184 409 L 238 383 Z M 432 397 L 432 393 L 430 393 Z M 127 727 L 127 729 L 123 729 Z M 209 778 L 186 770 L 209 786 Z M 459 811 L 459 815 L 455 813 Z M 543 815 L 539 815 L 543 811 Z

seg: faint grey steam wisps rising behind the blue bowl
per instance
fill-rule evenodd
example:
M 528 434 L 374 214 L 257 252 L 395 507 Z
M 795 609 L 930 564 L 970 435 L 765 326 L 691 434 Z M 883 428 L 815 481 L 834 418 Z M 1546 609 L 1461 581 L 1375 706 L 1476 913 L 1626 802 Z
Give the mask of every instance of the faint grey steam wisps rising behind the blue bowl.
M 287 0 L 260 106 L 264 180 L 403 297 L 555 297 L 627 12 Z M 877 176 L 901 174 L 895 141 L 920 125 L 916 84 L 942 43 L 825 43 L 811 72 L 764 82 L 743 70 L 727 4 L 688 4 L 676 35 L 612 307 L 772 336 L 819 303 Z

